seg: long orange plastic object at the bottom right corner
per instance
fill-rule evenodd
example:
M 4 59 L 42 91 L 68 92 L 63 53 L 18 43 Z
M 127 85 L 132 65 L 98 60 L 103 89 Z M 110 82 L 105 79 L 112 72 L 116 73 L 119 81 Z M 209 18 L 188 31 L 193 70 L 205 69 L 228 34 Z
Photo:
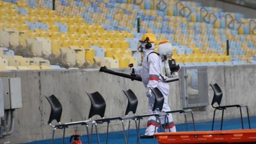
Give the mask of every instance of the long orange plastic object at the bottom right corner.
M 236 144 L 256 143 L 256 129 L 198 132 L 161 132 L 154 134 L 159 144 Z

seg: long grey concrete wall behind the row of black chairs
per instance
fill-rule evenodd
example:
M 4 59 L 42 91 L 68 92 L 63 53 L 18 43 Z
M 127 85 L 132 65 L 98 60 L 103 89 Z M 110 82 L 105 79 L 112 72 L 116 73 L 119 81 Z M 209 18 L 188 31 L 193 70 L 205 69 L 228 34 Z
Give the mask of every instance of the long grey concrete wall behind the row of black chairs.
M 129 72 L 129 69 L 122 71 Z M 16 110 L 15 131 L 10 136 L 11 143 L 31 142 L 50 139 L 52 128 L 48 126 L 50 104 L 44 96 L 54 94 L 62 103 L 61 122 L 88 119 L 90 100 L 86 92 L 98 91 L 105 98 L 107 107 L 105 117 L 121 116 L 125 112 L 127 100 L 122 90 L 132 89 L 138 97 L 138 114 L 147 112 L 147 98 L 142 82 L 100 73 L 98 69 L 84 70 L 40 70 L 0 72 L 0 77 L 20 77 L 22 83 L 22 108 Z M 208 82 L 218 83 L 224 95 L 222 104 L 248 104 L 250 114 L 256 115 L 256 65 L 244 66 L 209 66 Z M 209 87 L 209 103 L 213 91 Z M 182 109 L 180 81 L 170 83 L 169 104 L 172 110 Z M 225 118 L 239 117 L 238 109 L 225 112 Z M 245 112 L 245 111 L 244 111 Z M 220 118 L 217 113 L 217 118 Z M 196 121 L 211 120 L 213 108 L 206 106 L 194 108 Z M 188 118 L 190 120 L 190 118 Z M 175 123 L 183 123 L 182 115 L 174 115 Z M 141 127 L 146 126 L 146 119 Z M 85 134 L 85 128 L 74 126 L 68 128 L 66 136 L 78 128 L 79 134 Z M 106 124 L 99 126 L 105 132 Z M 121 130 L 120 122 L 112 122 L 110 131 Z M 62 130 L 56 130 L 56 138 L 61 137 Z

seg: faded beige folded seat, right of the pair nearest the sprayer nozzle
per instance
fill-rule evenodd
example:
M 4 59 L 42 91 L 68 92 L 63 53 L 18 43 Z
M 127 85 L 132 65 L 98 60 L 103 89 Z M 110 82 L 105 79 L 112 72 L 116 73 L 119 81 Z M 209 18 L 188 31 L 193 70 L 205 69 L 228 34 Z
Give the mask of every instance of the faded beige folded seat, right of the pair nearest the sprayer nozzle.
M 82 68 L 85 63 L 85 50 L 80 46 L 69 46 L 71 50 L 76 52 L 76 66 Z

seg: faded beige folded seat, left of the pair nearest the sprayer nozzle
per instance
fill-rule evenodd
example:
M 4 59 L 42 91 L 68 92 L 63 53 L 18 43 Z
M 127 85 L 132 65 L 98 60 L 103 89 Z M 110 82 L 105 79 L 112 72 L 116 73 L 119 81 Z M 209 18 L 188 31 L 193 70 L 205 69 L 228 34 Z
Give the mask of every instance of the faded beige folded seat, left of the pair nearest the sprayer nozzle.
M 76 65 L 76 52 L 69 48 L 60 48 L 62 64 L 68 67 Z

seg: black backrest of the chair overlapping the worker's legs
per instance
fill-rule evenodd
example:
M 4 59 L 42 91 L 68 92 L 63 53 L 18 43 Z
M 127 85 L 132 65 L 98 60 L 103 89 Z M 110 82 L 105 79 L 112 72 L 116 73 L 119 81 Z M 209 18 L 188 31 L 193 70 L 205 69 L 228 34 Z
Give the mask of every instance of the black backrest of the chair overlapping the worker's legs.
M 159 108 L 159 110 L 162 110 L 164 105 L 164 95 L 162 92 L 156 87 L 151 89 L 154 96 L 155 96 L 155 102 L 152 111 L 155 111 L 156 108 Z

